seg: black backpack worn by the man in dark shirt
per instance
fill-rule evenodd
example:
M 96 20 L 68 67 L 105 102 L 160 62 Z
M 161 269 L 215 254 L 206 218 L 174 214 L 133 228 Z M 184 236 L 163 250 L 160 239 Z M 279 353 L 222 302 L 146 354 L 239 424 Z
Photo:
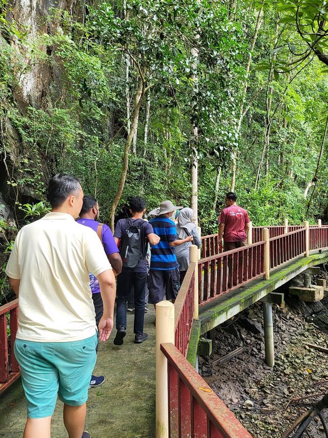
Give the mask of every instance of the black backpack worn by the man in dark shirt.
M 131 219 L 126 219 L 127 229 L 119 245 L 119 254 L 125 268 L 135 268 L 146 257 L 147 245 L 144 233 L 141 231 L 142 223 L 144 223 L 142 219 L 134 224 Z

